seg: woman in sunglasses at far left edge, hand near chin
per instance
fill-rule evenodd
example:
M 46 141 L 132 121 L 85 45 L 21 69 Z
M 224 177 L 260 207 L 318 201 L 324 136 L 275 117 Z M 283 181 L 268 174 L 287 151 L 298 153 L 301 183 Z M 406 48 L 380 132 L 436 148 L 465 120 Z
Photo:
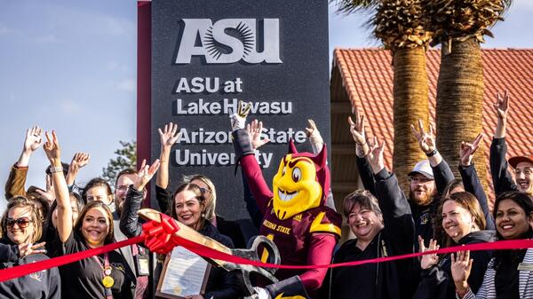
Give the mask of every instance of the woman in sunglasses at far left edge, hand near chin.
M 36 244 L 43 233 L 39 212 L 33 201 L 22 196 L 12 198 L 1 220 L 3 237 L 0 243 L 12 246 L 11 255 L 2 256 L 0 268 L 11 268 L 47 260 L 44 243 Z M 13 255 L 14 254 L 14 255 Z M 2 298 L 61 298 L 60 272 L 58 268 L 11 279 L 0 283 Z

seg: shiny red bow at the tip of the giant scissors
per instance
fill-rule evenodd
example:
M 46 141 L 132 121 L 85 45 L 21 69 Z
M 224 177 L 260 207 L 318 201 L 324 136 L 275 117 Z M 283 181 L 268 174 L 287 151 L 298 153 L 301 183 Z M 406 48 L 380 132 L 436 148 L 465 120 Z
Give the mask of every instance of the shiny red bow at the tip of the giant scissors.
M 150 251 L 166 255 L 172 248 L 179 245 L 179 238 L 174 232 L 179 231 L 178 224 L 174 223 L 171 216 L 159 214 L 161 222 L 150 221 L 142 225 L 142 233 L 145 235 L 145 245 Z

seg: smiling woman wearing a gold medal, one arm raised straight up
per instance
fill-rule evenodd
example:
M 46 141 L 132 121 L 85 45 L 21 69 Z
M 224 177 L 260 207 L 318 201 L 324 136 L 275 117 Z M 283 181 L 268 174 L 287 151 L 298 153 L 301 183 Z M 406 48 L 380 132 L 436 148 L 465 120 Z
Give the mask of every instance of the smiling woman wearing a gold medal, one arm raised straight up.
M 46 132 L 44 152 L 52 165 L 52 180 L 57 199 L 57 231 L 60 255 L 99 248 L 113 243 L 113 217 L 107 205 L 91 201 L 80 212 L 76 224 L 72 222 L 68 186 L 61 169 L 60 146 L 55 132 Z M 123 256 L 115 251 L 92 256 L 60 268 L 61 293 L 64 298 L 129 299 L 134 277 L 124 267 Z

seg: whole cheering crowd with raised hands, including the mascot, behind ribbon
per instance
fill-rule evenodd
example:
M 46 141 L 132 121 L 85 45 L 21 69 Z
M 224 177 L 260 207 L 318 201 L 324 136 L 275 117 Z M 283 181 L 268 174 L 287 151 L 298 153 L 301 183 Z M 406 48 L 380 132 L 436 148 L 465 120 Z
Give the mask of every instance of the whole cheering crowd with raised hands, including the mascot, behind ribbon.
M 506 160 L 505 125 L 509 96 L 497 94 L 497 127 L 490 146 L 490 172 L 496 201 L 492 212 L 473 154 L 480 134 L 460 145 L 460 178 L 435 146 L 430 125 L 412 126 L 427 160 L 409 173 L 408 194 L 384 163 L 385 140 L 368 138 L 364 116 L 354 110 L 348 120 L 355 142 L 357 171 L 363 189 L 354 190 L 336 211 L 330 191 L 326 146 L 313 121 L 306 128 L 313 153 L 290 153 L 282 158 L 272 190 L 262 177 L 254 152 L 267 143 L 262 122 L 246 124 L 247 108 L 231 115 L 235 156 L 243 172 L 244 194 L 217 194 L 203 174 L 183 174 L 179 184 L 169 179 L 171 147 L 178 125 L 158 130 L 160 157 L 139 169 L 123 169 L 115 182 L 92 178 L 76 186 L 80 169 L 90 161 L 76 153 L 64 162 L 55 131 L 27 130 L 20 158 L 5 184 L 7 209 L 0 220 L 1 269 L 82 252 L 143 232 L 138 211 L 155 185 L 160 210 L 195 232 L 227 248 L 246 248 L 239 224 L 217 214 L 219 196 L 243 197 L 259 233 L 277 245 L 282 264 L 318 265 L 362 261 L 425 252 L 457 245 L 533 237 L 533 156 Z M 26 188 L 32 153 L 43 147 L 50 166 L 46 186 Z M 509 170 L 514 171 L 514 176 Z M 152 181 L 155 177 L 155 181 Z M 219 195 L 219 196 L 218 196 Z M 344 219 L 344 220 L 343 220 Z M 338 244 L 345 221 L 355 236 Z M 269 254 L 259 254 L 263 262 Z M 169 255 L 155 255 L 136 244 L 75 263 L 0 282 L 5 298 L 153 298 Z M 254 280 L 255 298 L 533 298 L 533 249 L 459 251 L 380 264 L 280 270 L 279 281 Z M 244 298 L 248 294 L 238 273 L 212 267 L 203 294 L 186 298 Z M 284 295 L 283 295 L 284 294 Z M 298 297 L 301 295 L 301 297 Z

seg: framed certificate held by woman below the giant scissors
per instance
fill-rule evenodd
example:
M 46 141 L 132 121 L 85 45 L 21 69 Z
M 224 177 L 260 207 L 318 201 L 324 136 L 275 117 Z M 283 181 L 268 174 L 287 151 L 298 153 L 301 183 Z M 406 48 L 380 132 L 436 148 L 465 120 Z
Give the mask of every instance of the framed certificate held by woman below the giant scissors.
M 170 299 L 203 295 L 210 270 L 211 264 L 201 256 L 181 246 L 175 247 L 164 260 L 155 295 Z

